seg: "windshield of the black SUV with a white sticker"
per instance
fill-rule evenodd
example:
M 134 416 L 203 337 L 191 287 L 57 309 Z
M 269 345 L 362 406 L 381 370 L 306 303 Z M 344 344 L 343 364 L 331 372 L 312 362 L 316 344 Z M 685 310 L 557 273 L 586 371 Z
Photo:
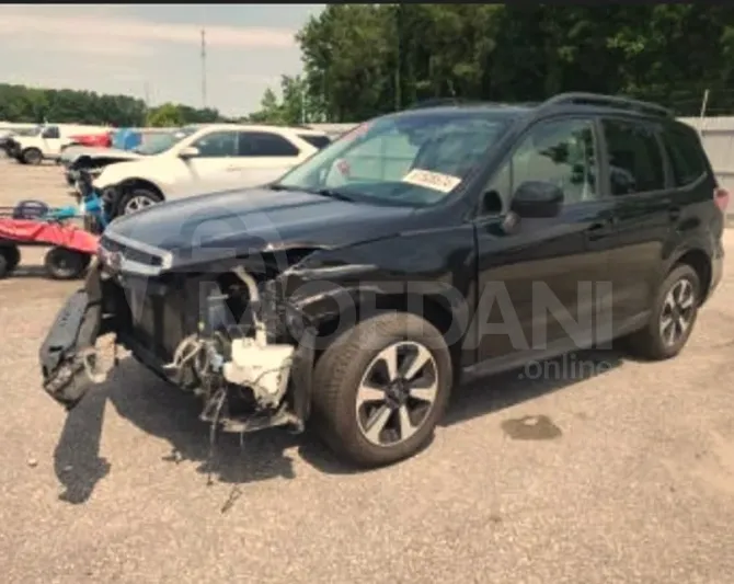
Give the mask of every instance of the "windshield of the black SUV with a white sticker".
M 507 123 L 489 111 L 377 118 L 293 169 L 274 188 L 386 205 L 433 205 L 481 163 Z

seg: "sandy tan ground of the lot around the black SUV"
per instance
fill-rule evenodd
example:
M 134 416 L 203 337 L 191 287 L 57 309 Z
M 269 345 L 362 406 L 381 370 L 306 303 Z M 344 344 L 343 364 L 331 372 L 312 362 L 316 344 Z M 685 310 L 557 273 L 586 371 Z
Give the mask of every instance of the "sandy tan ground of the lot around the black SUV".
M 0 204 L 20 198 L 69 201 L 60 170 L 0 160 Z M 0 282 L 3 580 L 730 584 L 732 234 L 677 359 L 580 354 L 462 388 L 431 448 L 362 473 L 277 431 L 207 463 L 197 404 L 129 359 L 67 417 L 36 352 L 78 284 L 26 254 Z

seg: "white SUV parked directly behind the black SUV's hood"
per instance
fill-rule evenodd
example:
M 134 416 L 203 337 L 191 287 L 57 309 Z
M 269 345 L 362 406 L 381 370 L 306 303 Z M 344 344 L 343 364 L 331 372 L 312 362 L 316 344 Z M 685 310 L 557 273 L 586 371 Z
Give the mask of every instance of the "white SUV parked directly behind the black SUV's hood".
M 300 127 L 185 126 L 137 149 L 137 160 L 105 167 L 93 181 L 111 218 L 161 201 L 256 186 L 283 175 L 330 142 Z

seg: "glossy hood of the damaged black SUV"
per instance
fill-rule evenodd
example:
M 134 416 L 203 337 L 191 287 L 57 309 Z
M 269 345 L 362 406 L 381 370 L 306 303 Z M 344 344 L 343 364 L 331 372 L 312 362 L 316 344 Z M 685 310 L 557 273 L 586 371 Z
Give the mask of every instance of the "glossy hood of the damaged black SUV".
M 165 254 L 167 267 L 286 248 L 339 248 L 395 234 L 408 207 L 349 203 L 300 191 L 250 188 L 153 205 L 103 237 Z M 113 248 L 116 247 L 114 243 Z

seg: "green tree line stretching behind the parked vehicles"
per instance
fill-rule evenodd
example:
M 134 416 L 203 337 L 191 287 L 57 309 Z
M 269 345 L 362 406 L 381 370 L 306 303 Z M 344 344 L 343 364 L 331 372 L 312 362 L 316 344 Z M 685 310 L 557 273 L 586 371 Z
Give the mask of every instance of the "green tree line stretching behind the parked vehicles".
M 253 122 L 359 122 L 434 98 L 541 101 L 624 94 L 734 114 L 734 5 L 329 4 L 298 32 L 303 73 L 268 89 Z M 279 95 L 278 95 L 279 93 Z M 172 126 L 217 110 L 0 84 L 0 119 Z

